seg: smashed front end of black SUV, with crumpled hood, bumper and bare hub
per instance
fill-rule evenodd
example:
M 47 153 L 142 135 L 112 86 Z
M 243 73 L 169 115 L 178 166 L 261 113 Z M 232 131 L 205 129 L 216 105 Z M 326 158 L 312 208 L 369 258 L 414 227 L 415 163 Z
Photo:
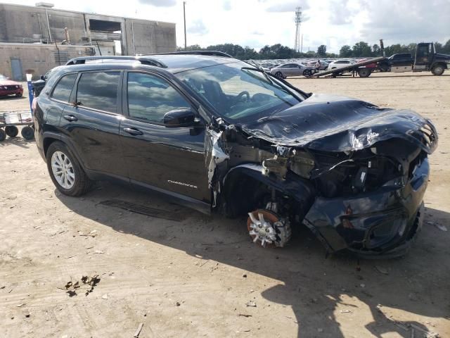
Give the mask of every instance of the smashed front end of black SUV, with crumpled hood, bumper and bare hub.
M 437 132 L 412 111 L 313 95 L 215 129 L 207 133 L 213 207 L 250 211 L 254 242 L 284 246 L 303 224 L 328 253 L 400 256 L 420 230 Z

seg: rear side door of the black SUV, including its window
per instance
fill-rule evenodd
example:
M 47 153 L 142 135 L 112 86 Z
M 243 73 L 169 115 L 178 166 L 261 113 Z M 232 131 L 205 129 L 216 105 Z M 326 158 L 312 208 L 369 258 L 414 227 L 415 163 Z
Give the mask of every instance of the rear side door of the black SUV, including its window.
M 60 127 L 84 168 L 127 180 L 119 136 L 122 75 L 118 70 L 80 73 Z

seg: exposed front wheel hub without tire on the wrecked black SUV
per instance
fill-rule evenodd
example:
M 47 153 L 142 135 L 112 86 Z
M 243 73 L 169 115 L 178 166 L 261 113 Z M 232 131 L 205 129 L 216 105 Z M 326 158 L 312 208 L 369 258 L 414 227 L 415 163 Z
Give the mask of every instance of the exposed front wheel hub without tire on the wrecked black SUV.
M 290 239 L 290 226 L 287 220 L 281 220 L 276 213 L 259 209 L 248 213 L 247 228 L 254 243 L 262 246 L 284 246 Z

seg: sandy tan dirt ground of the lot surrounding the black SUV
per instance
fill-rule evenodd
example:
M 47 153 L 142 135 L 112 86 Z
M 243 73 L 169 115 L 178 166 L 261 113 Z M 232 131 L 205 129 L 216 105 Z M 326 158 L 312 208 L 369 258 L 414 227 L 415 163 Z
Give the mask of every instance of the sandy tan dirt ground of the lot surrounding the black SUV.
M 140 323 L 139 337 L 450 337 L 450 231 L 436 226 L 450 230 L 450 74 L 290 81 L 434 121 L 440 139 L 425 223 L 407 256 L 326 258 L 308 230 L 285 249 L 262 249 L 244 219 L 207 217 L 108 183 L 63 196 L 34 142 L 7 138 L 0 337 L 133 337 Z M 0 111 L 22 108 L 26 98 L 0 100 Z M 111 199 L 156 208 L 159 217 L 100 204 Z M 100 281 L 88 296 L 80 281 L 69 296 L 65 284 L 83 275 Z

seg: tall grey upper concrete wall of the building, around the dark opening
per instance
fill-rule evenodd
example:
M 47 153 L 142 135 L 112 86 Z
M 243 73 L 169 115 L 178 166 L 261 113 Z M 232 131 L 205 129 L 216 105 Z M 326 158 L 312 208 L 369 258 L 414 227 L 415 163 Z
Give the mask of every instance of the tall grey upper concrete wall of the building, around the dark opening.
M 120 23 L 122 34 L 91 32 L 90 19 Z M 94 39 L 102 44 L 120 39 L 123 55 L 176 51 L 174 23 L 0 4 L 0 42 L 37 42 L 33 35 L 41 35 L 45 41 L 60 43 L 65 40 L 64 27 L 68 27 L 71 44 L 97 44 Z

